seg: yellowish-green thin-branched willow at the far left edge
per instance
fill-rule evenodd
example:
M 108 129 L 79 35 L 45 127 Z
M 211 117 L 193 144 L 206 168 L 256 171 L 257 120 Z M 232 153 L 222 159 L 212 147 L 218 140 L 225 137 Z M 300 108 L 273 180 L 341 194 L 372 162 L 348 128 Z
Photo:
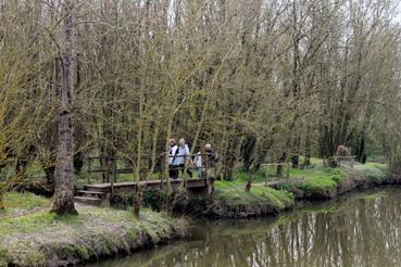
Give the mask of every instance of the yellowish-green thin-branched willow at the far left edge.
M 27 8 L 27 10 L 29 10 Z M 29 10 L 30 11 L 30 10 Z M 48 54 L 40 54 L 38 39 L 42 31 L 33 33 L 37 23 L 17 2 L 2 3 L 0 9 L 0 169 L 26 156 L 36 132 L 49 118 L 43 113 L 40 74 L 46 72 Z M 35 38 L 30 38 L 35 35 Z M 41 56 L 43 55 L 43 56 Z M 0 208 L 7 191 L 25 179 L 24 171 L 0 177 Z

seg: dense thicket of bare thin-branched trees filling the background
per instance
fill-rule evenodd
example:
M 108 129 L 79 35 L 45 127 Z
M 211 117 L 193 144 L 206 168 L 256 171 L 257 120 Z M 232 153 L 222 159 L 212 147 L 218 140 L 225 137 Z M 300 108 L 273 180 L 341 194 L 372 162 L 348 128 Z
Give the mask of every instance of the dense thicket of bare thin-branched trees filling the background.
M 372 152 L 400 166 L 396 0 L 3 2 L 0 168 L 13 173 L 26 157 L 43 170 L 64 164 L 55 140 L 66 114 L 71 135 L 63 140 L 75 139 L 64 145 L 67 158 L 122 155 L 135 174 L 121 181 L 138 180 L 143 169 L 151 178 L 164 165 L 166 176 L 159 155 L 172 137 L 186 138 L 192 153 L 212 143 L 224 179 L 240 164 L 252 174 L 264 162 L 300 156 L 302 165 L 340 145 L 360 161 Z M 60 112 L 60 103 L 71 109 Z M 76 185 L 95 179 L 83 173 Z M 305 188 L 342 179 L 326 176 Z M 263 171 L 252 177 L 264 180 Z M 61 195 L 72 203 L 67 186 Z

